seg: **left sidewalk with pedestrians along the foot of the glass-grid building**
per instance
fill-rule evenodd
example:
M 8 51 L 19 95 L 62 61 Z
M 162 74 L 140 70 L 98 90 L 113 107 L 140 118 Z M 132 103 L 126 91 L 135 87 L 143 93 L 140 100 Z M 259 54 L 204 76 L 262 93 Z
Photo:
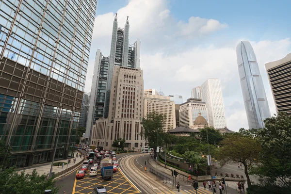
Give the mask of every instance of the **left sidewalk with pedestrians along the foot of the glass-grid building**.
M 76 150 L 75 153 L 74 153 L 74 157 L 76 157 L 77 153 L 79 153 L 79 152 Z M 80 153 L 78 155 L 80 155 Z M 80 166 L 82 161 L 84 161 L 84 158 L 80 158 L 80 156 L 78 158 L 76 158 L 76 162 L 74 162 L 73 158 L 71 158 L 71 163 L 65 164 L 64 168 L 62 168 L 62 163 L 63 162 L 68 162 L 68 160 L 55 161 L 55 162 L 60 162 L 60 166 L 59 167 L 58 166 L 53 166 L 52 167 L 52 172 L 54 172 L 56 177 L 60 176 L 60 175 L 63 175 L 64 173 L 67 173 L 68 171 L 73 170 L 74 168 Z M 24 168 L 22 170 L 19 170 L 19 173 L 24 171 L 25 173 L 32 174 L 32 171 L 34 169 L 36 169 L 36 172 L 39 175 L 43 175 L 43 174 L 47 175 L 47 174 L 49 174 L 50 167 L 51 167 L 51 162 L 48 162 L 48 163 L 45 163 L 45 164 L 39 164 L 39 165 L 32 165 L 30 167 L 26 167 L 26 168 Z

